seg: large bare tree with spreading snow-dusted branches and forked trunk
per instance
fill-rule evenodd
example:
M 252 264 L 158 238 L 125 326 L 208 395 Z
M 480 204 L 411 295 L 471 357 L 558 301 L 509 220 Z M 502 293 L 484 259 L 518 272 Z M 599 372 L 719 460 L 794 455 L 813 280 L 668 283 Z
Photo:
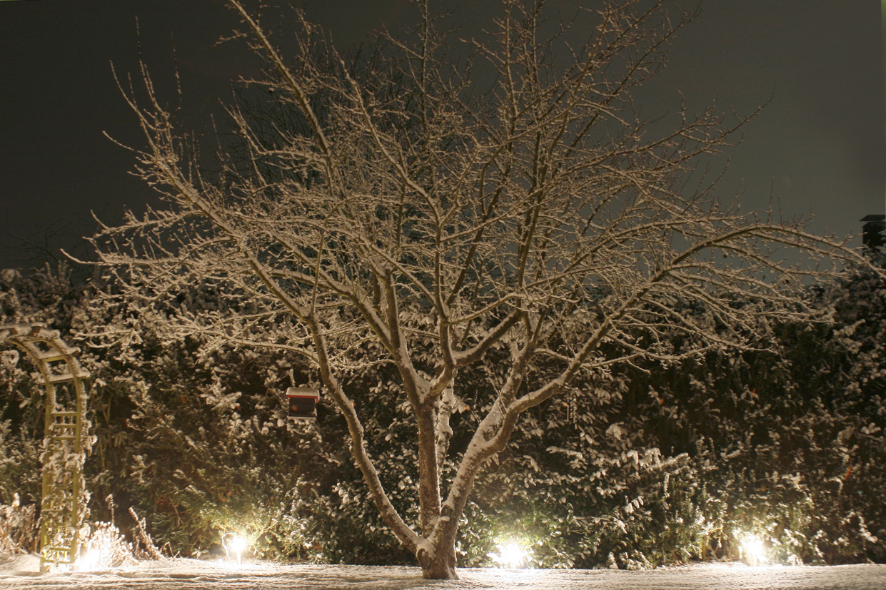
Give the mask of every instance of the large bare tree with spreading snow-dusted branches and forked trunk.
M 671 2 L 606 0 L 571 46 L 569 27 L 543 23 L 541 0 L 504 0 L 458 59 L 444 21 L 417 2 L 411 36 L 381 35 L 349 60 L 300 16 L 284 58 L 255 13 L 228 4 L 267 61 L 253 84 L 277 110 L 230 107 L 238 157 L 222 156 L 210 180 L 145 75 L 146 108 L 125 94 L 147 138 L 138 171 L 167 209 L 93 241 L 145 313 L 197 284 L 229 294 L 228 309 L 170 315 L 175 333 L 315 363 L 377 508 L 425 578 L 457 577 L 472 485 L 527 409 L 617 363 L 766 347 L 773 320 L 820 314 L 807 279 L 861 261 L 800 223 L 712 198 L 698 163 L 743 120 L 684 110 L 664 130 L 667 119 L 637 113 L 633 91 L 691 18 Z M 450 458 L 459 373 L 493 349 L 505 377 Z M 396 368 L 415 420 L 414 525 L 389 501 L 341 385 L 368 361 Z

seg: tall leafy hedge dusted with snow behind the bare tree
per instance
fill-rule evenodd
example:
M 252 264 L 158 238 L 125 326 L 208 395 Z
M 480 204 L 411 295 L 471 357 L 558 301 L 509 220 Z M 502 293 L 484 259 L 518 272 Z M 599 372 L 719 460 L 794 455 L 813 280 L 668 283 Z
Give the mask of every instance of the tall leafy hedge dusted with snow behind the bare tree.
M 75 288 L 64 268 L 0 276 L 0 321 L 63 330 L 95 377 L 94 499 L 136 508 L 170 554 L 221 551 L 221 535 L 237 531 L 268 557 L 411 563 L 338 415 L 322 401 L 316 423 L 285 417 L 285 389 L 311 380 L 301 359 L 198 334 L 170 343 L 165 318 L 94 305 L 98 284 Z M 466 511 L 460 563 L 490 563 L 515 543 L 539 567 L 641 568 L 739 558 L 748 535 L 775 560 L 886 561 L 886 285 L 857 275 L 811 297 L 834 308 L 835 325 L 782 326 L 779 355 L 614 368 L 525 415 Z M 182 297 L 183 308 L 214 305 L 211 291 Z M 392 402 L 393 371 L 359 354 L 364 369 L 346 386 L 371 453 L 395 468 L 383 482 L 392 502 L 415 519 L 408 406 Z M 476 422 L 492 399 L 495 354 L 462 376 L 454 425 Z M 5 354 L 0 370 L 0 503 L 19 493 L 34 504 L 39 390 L 24 360 Z M 450 455 L 465 444 L 453 439 Z

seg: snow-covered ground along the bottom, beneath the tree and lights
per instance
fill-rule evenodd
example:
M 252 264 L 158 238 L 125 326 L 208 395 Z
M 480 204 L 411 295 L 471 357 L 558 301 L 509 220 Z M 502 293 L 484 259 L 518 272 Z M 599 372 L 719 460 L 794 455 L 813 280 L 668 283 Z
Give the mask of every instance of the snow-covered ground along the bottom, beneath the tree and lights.
M 175 559 L 105 571 L 38 573 L 33 555 L 0 555 L 4 590 L 884 590 L 886 565 L 747 567 L 707 564 L 653 571 L 460 570 L 431 582 L 416 568 L 233 564 Z

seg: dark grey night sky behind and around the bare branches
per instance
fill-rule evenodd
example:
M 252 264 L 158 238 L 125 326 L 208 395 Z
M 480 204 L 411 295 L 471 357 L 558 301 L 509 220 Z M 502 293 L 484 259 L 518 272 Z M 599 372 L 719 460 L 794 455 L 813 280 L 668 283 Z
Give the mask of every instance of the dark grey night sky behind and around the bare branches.
M 549 1 L 563 13 L 600 2 Z M 339 48 L 413 14 L 405 0 L 299 4 Z M 498 5 L 445 4 L 470 34 Z M 880 11 L 877 0 L 702 0 L 671 65 L 643 90 L 644 112 L 672 109 L 679 92 L 738 113 L 773 97 L 731 151 L 722 195 L 743 190 L 743 211 L 765 210 L 772 196 L 785 217 L 814 213 L 817 232 L 857 233 L 884 204 Z M 29 266 L 27 244 L 74 247 L 95 228 L 90 210 L 114 222 L 152 198 L 128 174 L 132 154 L 103 136 L 141 145 L 110 67 L 136 72 L 136 17 L 142 55 L 171 102 L 175 59 L 187 128 L 208 133 L 229 81 L 256 71 L 243 44 L 214 46 L 235 20 L 212 0 L 0 1 L 0 268 Z

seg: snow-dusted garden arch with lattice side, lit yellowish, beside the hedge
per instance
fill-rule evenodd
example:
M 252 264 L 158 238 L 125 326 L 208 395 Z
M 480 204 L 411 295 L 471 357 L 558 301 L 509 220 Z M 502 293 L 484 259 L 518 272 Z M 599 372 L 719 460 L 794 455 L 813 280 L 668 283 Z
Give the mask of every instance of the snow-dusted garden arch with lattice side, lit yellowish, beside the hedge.
M 46 392 L 43 430 L 43 499 L 40 508 L 40 568 L 73 568 L 87 516 L 83 461 L 89 452 L 86 384 L 89 373 L 77 362 L 77 348 L 58 330 L 41 324 L 0 325 L 0 346 L 27 353 L 40 371 Z

